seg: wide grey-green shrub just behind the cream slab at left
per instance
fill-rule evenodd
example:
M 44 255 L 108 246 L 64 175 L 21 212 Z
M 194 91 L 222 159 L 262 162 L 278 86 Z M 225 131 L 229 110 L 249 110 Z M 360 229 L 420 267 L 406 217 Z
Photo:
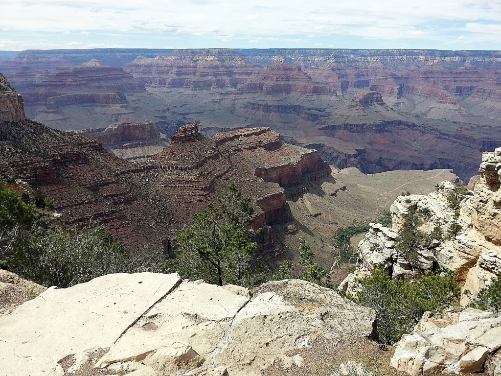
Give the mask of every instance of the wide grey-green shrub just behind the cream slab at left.
M 44 286 L 70 287 L 111 273 L 159 272 L 159 257 L 126 252 L 102 225 L 90 222 L 81 229 L 38 227 L 28 247 L 10 258 L 9 269 Z

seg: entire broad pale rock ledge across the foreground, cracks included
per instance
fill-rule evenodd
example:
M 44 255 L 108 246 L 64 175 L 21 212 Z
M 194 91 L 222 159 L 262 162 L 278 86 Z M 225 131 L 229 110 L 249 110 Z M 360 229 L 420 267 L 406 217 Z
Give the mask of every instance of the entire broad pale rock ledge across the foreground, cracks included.
M 371 336 L 374 319 L 373 311 L 301 280 L 250 292 L 177 274 L 111 274 L 51 288 L 0 316 L 0 361 L 6 374 L 62 376 L 100 348 L 92 366 L 115 372 L 258 376 L 317 337 Z

